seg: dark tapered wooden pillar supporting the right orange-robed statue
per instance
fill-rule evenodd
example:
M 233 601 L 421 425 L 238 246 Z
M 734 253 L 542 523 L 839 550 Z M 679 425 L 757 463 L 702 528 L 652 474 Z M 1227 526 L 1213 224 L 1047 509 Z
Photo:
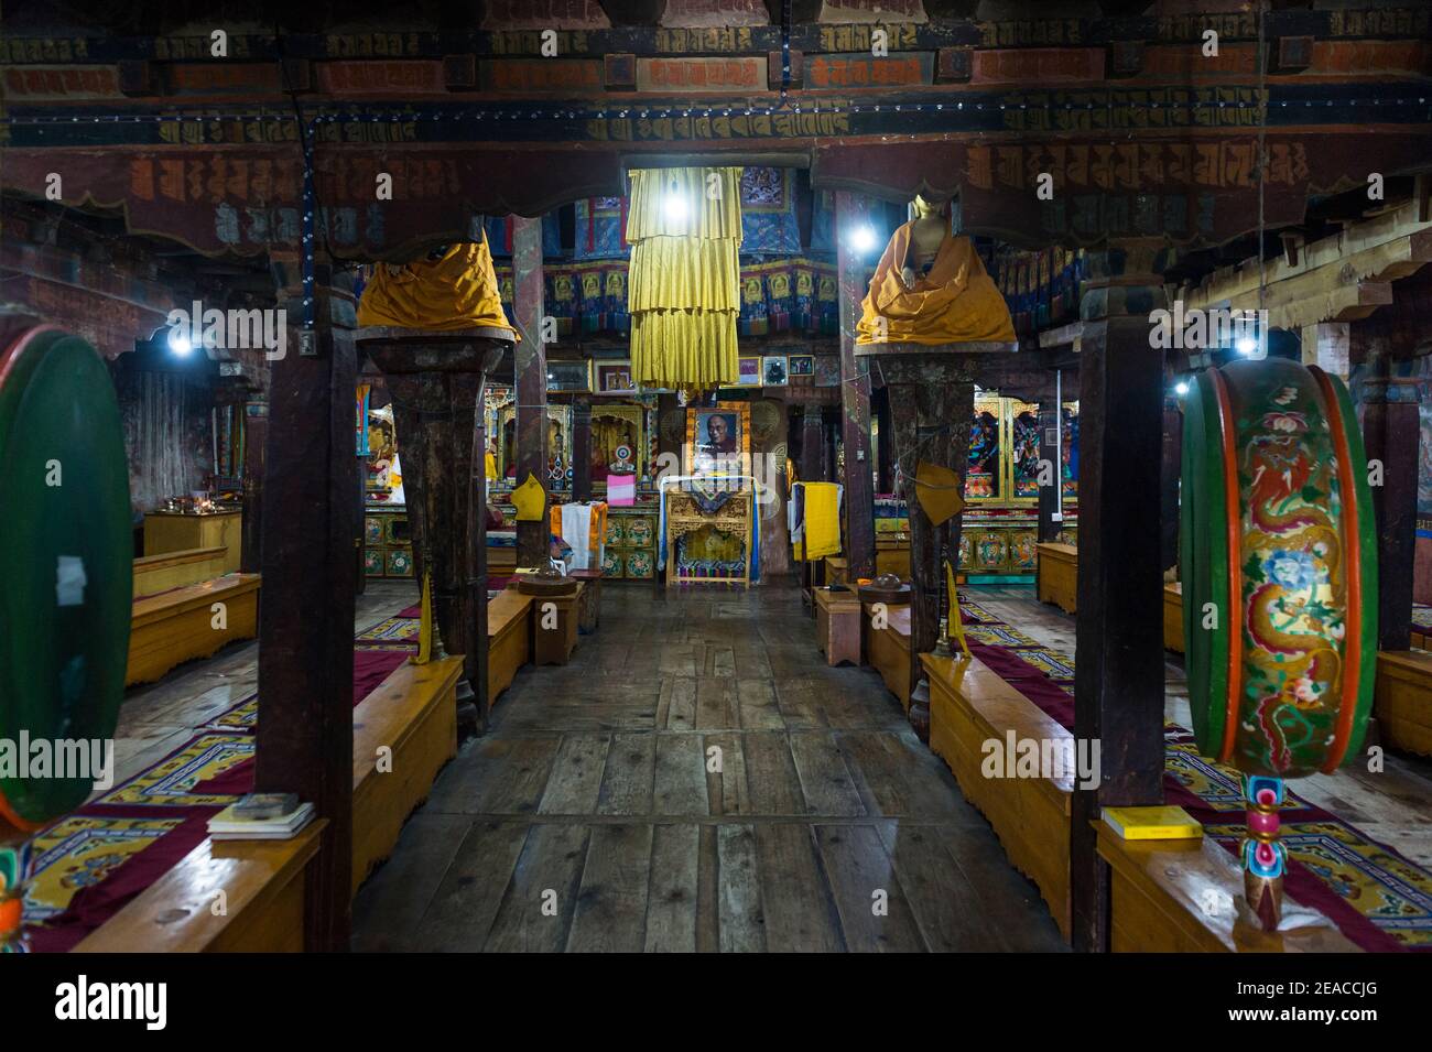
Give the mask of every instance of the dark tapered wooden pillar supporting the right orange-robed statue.
M 969 345 L 971 351 L 952 351 L 954 346 L 961 345 L 891 344 L 869 348 L 868 356 L 872 371 L 885 381 L 892 428 L 888 438 L 881 438 L 891 442 L 898 487 L 909 504 L 909 716 L 921 737 L 928 734 L 929 713 L 924 693 L 919 703 L 915 698 L 915 686 L 924 678 L 919 656 L 931 653 L 939 637 L 945 558 L 951 552 L 951 534 L 958 558 L 959 515 L 938 527 L 931 522 L 915 490 L 915 471 L 921 461 L 951 468 L 964 497 L 975 408 L 972 362 L 988 356 L 982 351 L 1000 345 Z

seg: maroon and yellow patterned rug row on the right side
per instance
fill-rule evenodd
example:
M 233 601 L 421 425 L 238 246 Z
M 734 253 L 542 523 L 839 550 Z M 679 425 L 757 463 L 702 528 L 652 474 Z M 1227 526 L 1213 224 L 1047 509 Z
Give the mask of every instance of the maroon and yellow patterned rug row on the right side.
M 1073 730 L 1074 658 L 1034 640 L 1008 643 L 1030 637 L 964 594 L 959 613 L 971 653 Z M 1246 830 L 1242 774 L 1199 756 L 1186 727 L 1164 724 L 1164 743 L 1167 802 L 1184 807 L 1206 836 L 1237 854 Z M 1289 792 L 1280 819 L 1292 899 L 1322 912 L 1365 950 L 1432 950 L 1432 873 L 1296 793 Z

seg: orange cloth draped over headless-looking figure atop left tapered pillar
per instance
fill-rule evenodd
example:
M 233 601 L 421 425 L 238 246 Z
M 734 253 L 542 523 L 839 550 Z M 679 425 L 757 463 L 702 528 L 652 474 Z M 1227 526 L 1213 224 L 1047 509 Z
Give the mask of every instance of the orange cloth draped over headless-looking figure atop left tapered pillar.
M 359 325 L 404 329 L 513 329 L 503 312 L 497 271 L 481 240 L 450 245 L 438 259 L 378 263 L 358 301 Z

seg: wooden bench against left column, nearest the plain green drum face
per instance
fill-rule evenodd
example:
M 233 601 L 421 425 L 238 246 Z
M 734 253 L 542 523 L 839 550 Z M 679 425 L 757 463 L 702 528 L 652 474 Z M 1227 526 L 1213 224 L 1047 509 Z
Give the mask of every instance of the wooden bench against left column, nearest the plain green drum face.
M 215 603 L 225 625 L 215 628 Z M 229 574 L 135 600 L 125 686 L 150 683 L 178 664 L 209 657 L 225 643 L 258 634 L 259 575 Z

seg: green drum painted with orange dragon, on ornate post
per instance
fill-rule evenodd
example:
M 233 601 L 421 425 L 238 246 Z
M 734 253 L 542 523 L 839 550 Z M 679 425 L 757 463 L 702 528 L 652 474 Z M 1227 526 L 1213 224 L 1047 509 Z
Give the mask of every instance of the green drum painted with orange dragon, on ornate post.
M 1277 358 L 1200 374 L 1180 515 L 1200 751 L 1280 779 L 1350 760 L 1376 674 L 1378 547 L 1342 381 Z

